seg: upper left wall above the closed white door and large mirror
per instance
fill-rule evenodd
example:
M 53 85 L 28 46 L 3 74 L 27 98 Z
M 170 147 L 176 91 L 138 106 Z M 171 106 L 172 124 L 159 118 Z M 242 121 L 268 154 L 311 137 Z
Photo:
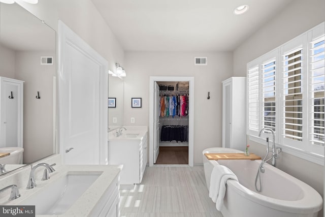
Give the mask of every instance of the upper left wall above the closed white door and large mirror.
M 123 66 L 124 50 L 91 0 L 46 0 L 39 1 L 37 5 L 19 4 L 56 31 L 57 21 L 64 22 L 108 61 L 111 71 L 115 69 L 116 62 Z

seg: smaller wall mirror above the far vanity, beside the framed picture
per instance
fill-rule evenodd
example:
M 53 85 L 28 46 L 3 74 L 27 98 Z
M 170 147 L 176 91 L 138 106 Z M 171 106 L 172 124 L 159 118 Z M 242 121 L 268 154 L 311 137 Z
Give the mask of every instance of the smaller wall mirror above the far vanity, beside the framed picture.
M 124 81 L 119 77 L 109 75 L 108 77 L 108 97 L 116 98 L 116 107 L 108 108 L 108 128 L 113 130 L 123 126 L 124 116 Z

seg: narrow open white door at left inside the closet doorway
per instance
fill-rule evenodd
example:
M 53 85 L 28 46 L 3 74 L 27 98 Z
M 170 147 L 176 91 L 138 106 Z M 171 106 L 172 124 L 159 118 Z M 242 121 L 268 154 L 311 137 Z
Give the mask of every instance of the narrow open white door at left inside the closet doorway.
M 154 164 L 159 155 L 159 85 L 154 82 Z

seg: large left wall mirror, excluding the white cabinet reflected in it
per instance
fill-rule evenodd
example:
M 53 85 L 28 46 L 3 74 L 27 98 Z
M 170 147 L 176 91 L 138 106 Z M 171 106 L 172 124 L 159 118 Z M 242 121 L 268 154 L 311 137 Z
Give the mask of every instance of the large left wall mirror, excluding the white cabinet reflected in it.
M 0 158 L 9 172 L 56 150 L 56 32 L 16 3 L 0 4 L 0 76 L 23 81 L 23 158 L 22 164 Z

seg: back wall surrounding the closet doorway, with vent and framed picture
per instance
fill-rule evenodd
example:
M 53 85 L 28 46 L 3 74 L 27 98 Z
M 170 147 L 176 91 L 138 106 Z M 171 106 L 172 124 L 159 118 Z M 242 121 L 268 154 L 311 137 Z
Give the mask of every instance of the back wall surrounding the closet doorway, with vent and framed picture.
M 208 65 L 194 66 L 195 56 L 207 56 Z M 150 76 L 194 76 L 194 164 L 202 163 L 203 149 L 222 146 L 221 81 L 232 76 L 231 52 L 129 51 L 125 52 L 125 63 L 125 126 L 149 126 Z M 142 98 L 142 108 L 131 108 L 131 98 L 137 97 Z

